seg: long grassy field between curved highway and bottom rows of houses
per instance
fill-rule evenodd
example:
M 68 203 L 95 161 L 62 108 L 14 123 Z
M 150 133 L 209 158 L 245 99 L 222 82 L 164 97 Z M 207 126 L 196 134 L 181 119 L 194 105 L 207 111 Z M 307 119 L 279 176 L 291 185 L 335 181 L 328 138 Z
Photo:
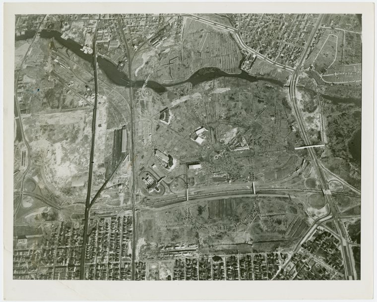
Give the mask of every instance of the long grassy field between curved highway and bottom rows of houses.
M 258 197 L 184 203 L 144 212 L 139 223 L 140 257 L 167 259 L 251 252 L 254 246 L 274 251 L 299 238 L 310 222 L 299 203 Z

